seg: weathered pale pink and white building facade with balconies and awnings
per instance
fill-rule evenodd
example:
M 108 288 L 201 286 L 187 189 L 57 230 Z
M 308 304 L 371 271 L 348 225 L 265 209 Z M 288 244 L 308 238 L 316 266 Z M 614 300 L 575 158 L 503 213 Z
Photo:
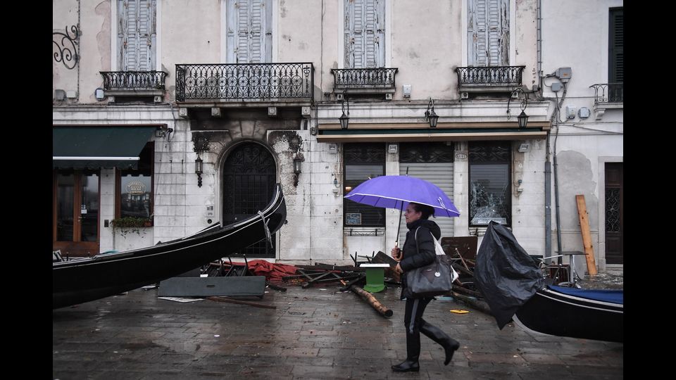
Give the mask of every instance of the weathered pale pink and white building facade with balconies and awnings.
M 563 202 L 584 161 L 575 153 L 594 160 L 589 184 L 601 153 L 603 163 L 621 162 L 621 108 L 603 108 L 615 129 L 595 134 L 595 146 L 580 148 L 565 130 L 576 126 L 553 121 L 561 106 L 550 82 L 570 80 L 564 108 L 580 99 L 572 105 L 601 112 L 589 85 L 605 80 L 602 68 L 580 82 L 566 70 L 542 75 L 592 63 L 544 49 L 547 33 L 575 47 L 557 29 L 565 15 L 540 3 L 55 1 L 54 248 L 94 255 L 235 222 L 263 208 L 279 182 L 288 223 L 273 246 L 223 256 L 352 262 L 389 252 L 402 224 L 397 210 L 343 196 L 369 177 L 408 173 L 442 187 L 461 211 L 435 220 L 442 236 L 480 241 L 496 220 L 530 254 L 551 255 L 557 127 L 562 249 L 581 249 L 577 213 Z M 597 24 L 580 33 L 602 34 Z M 606 138 L 619 148 L 601 152 Z M 594 232 L 603 189 L 588 189 Z M 596 247 L 608 241 L 592 235 Z M 605 252 L 595 255 L 604 262 Z

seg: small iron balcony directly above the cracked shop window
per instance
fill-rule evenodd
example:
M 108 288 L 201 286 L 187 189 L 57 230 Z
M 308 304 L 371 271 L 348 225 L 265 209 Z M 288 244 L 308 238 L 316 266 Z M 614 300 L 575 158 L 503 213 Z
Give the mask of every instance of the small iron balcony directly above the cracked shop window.
M 525 66 L 456 68 L 458 91 L 464 93 L 511 92 L 521 86 Z M 465 97 L 464 94 L 462 96 Z

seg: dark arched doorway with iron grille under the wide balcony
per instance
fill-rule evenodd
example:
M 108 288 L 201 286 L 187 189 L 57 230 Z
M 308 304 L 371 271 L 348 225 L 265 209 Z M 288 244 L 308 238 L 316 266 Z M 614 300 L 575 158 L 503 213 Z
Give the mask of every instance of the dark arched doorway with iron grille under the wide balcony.
M 263 210 L 273 197 L 276 179 L 275 159 L 265 146 L 250 142 L 235 147 L 223 165 L 223 224 L 244 220 Z M 272 246 L 263 240 L 228 255 L 274 258 L 275 235 Z

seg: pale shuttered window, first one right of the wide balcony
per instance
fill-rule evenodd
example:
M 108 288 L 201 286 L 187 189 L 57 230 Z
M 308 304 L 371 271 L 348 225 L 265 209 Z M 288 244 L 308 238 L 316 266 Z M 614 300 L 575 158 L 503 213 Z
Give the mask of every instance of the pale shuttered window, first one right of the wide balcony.
M 385 0 L 344 0 L 345 68 L 385 67 Z

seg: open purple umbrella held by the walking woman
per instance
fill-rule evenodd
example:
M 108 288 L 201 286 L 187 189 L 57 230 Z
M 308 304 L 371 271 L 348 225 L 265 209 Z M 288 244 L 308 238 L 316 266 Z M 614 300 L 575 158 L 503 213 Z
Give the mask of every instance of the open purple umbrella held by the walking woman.
M 345 198 L 365 205 L 397 210 L 403 210 L 408 203 L 415 202 L 432 206 L 434 216 L 460 216 L 456 205 L 439 186 L 408 175 L 382 175 L 369 179 L 352 189 Z M 399 241 L 399 229 L 396 240 Z

